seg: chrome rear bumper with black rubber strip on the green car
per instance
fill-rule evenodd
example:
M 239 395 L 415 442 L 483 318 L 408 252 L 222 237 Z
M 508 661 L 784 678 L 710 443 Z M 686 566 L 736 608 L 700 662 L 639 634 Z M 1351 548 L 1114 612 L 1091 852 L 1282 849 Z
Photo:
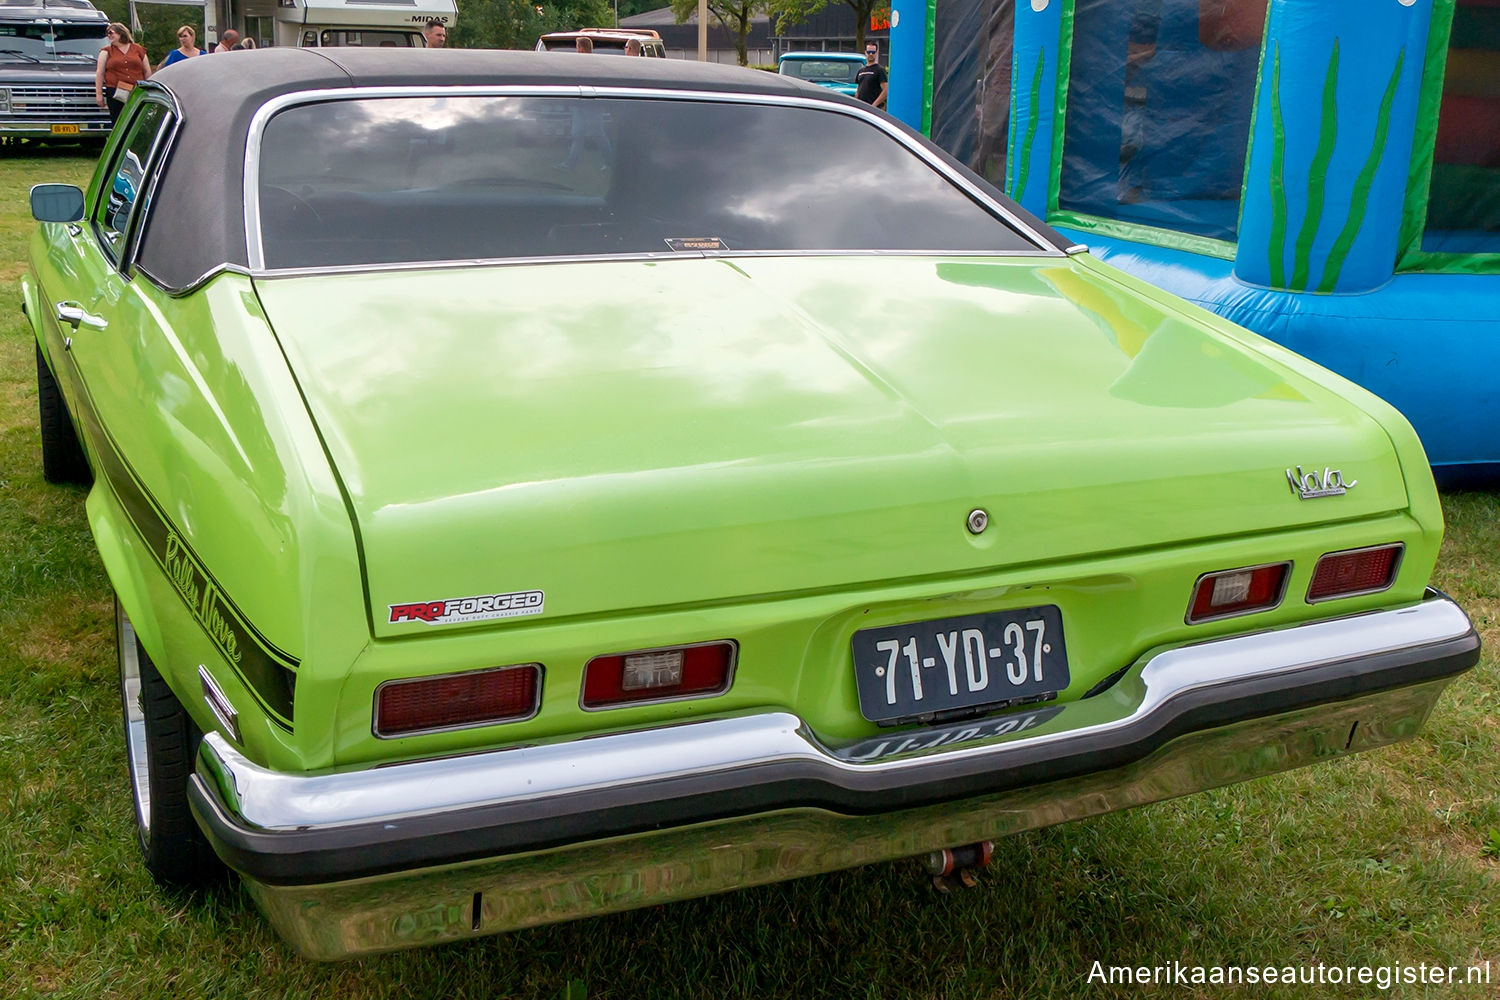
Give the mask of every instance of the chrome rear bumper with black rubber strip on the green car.
M 1479 639 L 1448 598 L 1143 657 L 1064 706 L 824 745 L 795 715 L 342 774 L 204 738 L 190 798 L 304 955 L 344 958 L 916 855 L 1413 736 Z

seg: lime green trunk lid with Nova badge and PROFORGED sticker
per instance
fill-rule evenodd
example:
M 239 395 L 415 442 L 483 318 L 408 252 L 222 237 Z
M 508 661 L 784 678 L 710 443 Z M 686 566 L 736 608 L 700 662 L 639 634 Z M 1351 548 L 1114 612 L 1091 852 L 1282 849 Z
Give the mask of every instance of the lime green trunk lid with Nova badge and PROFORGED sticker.
M 1371 417 L 1058 258 L 256 289 L 346 490 L 376 634 L 962 577 L 1407 502 Z M 1302 499 L 1298 466 L 1348 490 Z M 542 597 L 412 610 L 513 594 Z

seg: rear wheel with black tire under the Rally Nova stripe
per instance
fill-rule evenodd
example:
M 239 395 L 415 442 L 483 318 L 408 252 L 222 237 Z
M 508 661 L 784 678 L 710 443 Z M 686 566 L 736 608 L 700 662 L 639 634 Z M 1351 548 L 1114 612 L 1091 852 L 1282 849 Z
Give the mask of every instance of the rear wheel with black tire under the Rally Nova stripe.
M 214 882 L 224 867 L 188 808 L 188 778 L 202 733 L 141 648 L 118 598 L 114 619 L 135 840 L 146 870 L 164 886 Z

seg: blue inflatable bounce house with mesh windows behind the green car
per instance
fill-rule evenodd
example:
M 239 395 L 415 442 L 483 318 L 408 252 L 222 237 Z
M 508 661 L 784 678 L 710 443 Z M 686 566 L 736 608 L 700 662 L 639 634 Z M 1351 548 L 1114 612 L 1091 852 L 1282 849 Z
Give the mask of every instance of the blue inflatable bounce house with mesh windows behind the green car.
M 1500 484 L 1500 0 L 896 0 L 890 109 Z

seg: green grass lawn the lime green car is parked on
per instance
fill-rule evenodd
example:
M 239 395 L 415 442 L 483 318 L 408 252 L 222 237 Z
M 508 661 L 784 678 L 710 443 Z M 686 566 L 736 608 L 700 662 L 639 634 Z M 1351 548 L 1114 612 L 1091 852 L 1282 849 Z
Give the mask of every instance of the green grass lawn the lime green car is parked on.
M 6 150 L 0 150 L 4 153 Z M 338 966 L 296 958 L 237 885 L 156 889 L 135 855 L 111 603 L 84 492 L 39 474 L 16 277 L 38 180 L 0 159 L 0 996 L 1500 996 L 1500 496 L 1444 498 L 1437 585 L 1488 643 L 1420 738 L 1038 831 L 976 889 L 900 862 Z M 1106 964 L 1490 960 L 1490 987 L 1089 985 Z

